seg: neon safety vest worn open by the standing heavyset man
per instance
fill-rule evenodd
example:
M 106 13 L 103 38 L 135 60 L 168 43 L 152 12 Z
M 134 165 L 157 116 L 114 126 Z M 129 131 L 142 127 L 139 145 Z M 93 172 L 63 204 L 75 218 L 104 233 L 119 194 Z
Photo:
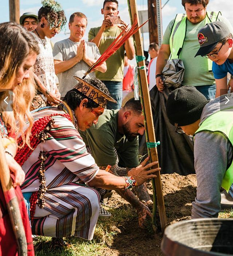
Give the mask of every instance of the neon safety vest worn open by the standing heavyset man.
M 219 14 L 221 14 L 221 12 L 206 12 L 205 24 L 216 21 Z M 186 20 L 187 16 L 185 13 L 178 13 L 175 16 L 169 43 L 171 51 L 170 59 L 179 59 L 179 54 L 185 42 Z M 212 61 L 210 59 L 208 59 L 208 70 L 212 71 Z

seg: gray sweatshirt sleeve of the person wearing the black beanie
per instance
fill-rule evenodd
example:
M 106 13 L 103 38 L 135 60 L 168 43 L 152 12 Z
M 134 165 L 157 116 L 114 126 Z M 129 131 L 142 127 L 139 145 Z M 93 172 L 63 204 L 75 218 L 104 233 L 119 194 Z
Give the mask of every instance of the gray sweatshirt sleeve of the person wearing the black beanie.
M 192 218 L 218 217 L 220 188 L 232 158 L 230 143 L 219 132 L 200 132 L 194 141 L 194 166 L 197 196 L 192 203 Z

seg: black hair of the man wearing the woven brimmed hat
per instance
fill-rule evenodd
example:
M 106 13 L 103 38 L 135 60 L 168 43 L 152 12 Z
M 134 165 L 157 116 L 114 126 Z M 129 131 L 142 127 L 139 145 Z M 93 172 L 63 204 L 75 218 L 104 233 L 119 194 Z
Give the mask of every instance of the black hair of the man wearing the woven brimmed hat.
M 84 80 L 87 81 L 89 84 L 94 85 L 96 88 L 102 90 L 102 92 L 110 95 L 110 92 L 106 85 L 104 85 L 104 83 L 101 82 L 98 78 L 87 78 Z M 63 100 L 67 102 L 68 106 L 70 106 L 72 110 L 75 110 L 80 105 L 81 101 L 85 98 L 88 100 L 86 105 L 87 108 L 99 107 L 99 104 L 97 104 L 75 88 L 68 91 Z

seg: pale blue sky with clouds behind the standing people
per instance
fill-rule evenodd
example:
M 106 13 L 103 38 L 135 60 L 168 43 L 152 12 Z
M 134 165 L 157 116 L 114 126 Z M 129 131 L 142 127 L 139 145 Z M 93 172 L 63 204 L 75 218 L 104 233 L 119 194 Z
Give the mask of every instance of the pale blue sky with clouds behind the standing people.
M 119 15 L 121 19 L 123 19 L 126 23 L 130 23 L 128 7 L 126 0 L 118 0 L 119 1 Z M 97 27 L 102 24 L 103 15 L 100 13 L 100 9 L 102 8 L 103 0 L 59 0 L 59 3 L 62 5 L 66 13 L 67 19 L 69 19 L 70 15 L 73 12 L 79 11 L 83 12 L 88 19 L 88 26 L 86 30 L 86 35 L 84 39 L 87 40 L 88 31 L 91 27 Z M 162 0 L 162 6 L 166 3 L 166 0 Z M 223 4 L 224 3 L 224 4 Z M 137 0 L 138 10 L 147 9 L 147 0 Z M 40 0 L 20 0 L 20 15 L 24 12 L 32 11 L 36 12 L 41 7 Z M 208 5 L 208 10 L 211 11 L 221 11 L 222 15 L 228 18 L 233 24 L 233 1 L 232 0 L 210 0 Z M 162 9 L 162 24 L 163 31 L 165 31 L 167 24 L 171 19 L 175 17 L 176 13 L 184 12 L 183 6 L 181 5 L 181 0 L 170 0 L 165 7 Z M 0 22 L 9 21 L 9 0 L 1 0 L 0 1 Z M 66 32 L 69 32 L 68 25 Z M 52 41 L 56 42 L 67 38 L 69 35 L 65 34 L 65 31 L 61 31 L 60 34 L 56 35 Z M 145 50 L 148 49 L 149 46 L 149 36 L 148 33 L 145 33 L 144 36 L 144 46 Z

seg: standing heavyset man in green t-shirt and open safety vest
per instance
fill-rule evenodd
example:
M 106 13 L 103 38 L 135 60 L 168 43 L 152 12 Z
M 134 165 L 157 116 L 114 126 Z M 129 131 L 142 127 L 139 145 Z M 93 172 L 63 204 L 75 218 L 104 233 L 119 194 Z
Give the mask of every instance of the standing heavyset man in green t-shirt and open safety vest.
M 198 31 L 207 23 L 220 20 L 227 24 L 230 31 L 232 26 L 220 12 L 207 12 L 209 0 L 182 0 L 185 8 L 184 14 L 177 14 L 171 20 L 163 36 L 156 66 L 156 85 L 163 91 L 162 70 L 166 59 L 182 59 L 185 74 L 182 85 L 195 86 L 207 99 L 215 97 L 216 85 L 212 73 L 212 61 L 198 56 L 194 58 L 199 49 L 197 42 Z

